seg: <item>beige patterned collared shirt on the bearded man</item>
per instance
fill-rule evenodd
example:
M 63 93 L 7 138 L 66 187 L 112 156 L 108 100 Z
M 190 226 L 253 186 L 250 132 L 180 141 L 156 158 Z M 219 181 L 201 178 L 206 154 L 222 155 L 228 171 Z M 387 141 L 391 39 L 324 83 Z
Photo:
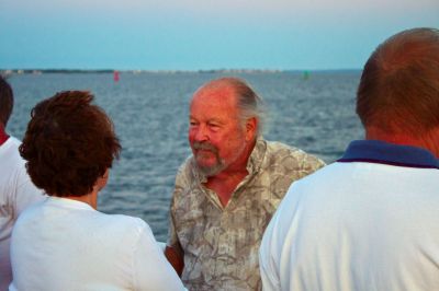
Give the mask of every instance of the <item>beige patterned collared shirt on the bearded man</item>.
M 266 226 L 290 185 L 324 165 L 299 149 L 258 139 L 248 175 L 223 207 L 190 156 L 177 174 L 168 238 L 184 252 L 185 287 L 260 290 L 258 251 Z

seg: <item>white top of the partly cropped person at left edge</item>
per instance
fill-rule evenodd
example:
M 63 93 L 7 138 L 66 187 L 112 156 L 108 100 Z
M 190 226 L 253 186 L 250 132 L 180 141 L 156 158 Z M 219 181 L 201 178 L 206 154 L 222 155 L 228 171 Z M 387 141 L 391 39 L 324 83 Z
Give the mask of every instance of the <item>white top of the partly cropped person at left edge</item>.
M 13 137 L 0 146 L 0 291 L 7 290 L 12 280 L 9 259 L 12 226 L 25 207 L 44 198 L 26 173 L 19 146 L 20 141 Z

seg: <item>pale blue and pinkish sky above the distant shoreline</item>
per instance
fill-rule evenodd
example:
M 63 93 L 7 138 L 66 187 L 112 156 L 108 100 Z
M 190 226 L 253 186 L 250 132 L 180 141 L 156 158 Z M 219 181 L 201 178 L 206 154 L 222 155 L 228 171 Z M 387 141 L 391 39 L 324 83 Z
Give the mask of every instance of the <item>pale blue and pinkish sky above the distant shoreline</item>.
M 0 69 L 361 69 L 439 0 L 0 0 Z

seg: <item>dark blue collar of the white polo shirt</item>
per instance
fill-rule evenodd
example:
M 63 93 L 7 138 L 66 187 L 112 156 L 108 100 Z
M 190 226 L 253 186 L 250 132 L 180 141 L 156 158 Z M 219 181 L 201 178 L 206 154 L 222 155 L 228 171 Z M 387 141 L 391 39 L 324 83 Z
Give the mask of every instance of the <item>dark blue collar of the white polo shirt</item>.
M 367 162 L 396 166 L 439 168 L 431 152 L 410 146 L 398 146 L 380 140 L 354 140 L 337 162 Z

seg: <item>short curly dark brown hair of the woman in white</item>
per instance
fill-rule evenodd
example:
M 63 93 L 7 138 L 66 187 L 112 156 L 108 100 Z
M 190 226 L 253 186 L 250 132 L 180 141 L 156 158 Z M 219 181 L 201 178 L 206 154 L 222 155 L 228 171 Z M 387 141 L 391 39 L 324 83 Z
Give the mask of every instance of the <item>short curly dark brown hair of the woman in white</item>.
M 93 95 L 65 91 L 31 113 L 20 154 L 32 182 L 50 196 L 83 196 L 119 158 L 121 144 Z

